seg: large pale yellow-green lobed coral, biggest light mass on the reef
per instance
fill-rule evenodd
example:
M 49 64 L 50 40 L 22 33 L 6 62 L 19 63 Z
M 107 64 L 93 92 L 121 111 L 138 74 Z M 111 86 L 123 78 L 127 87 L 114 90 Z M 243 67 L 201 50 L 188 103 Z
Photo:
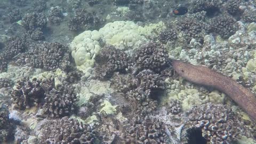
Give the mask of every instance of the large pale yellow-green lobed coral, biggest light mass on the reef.
M 71 55 L 79 70 L 93 67 L 95 54 L 99 53 L 106 43 L 117 47 L 133 46 L 139 41 L 147 41 L 146 36 L 159 33 L 164 28 L 162 21 L 145 27 L 138 26 L 132 21 L 109 22 L 99 31 L 86 30 L 76 36 L 70 43 Z

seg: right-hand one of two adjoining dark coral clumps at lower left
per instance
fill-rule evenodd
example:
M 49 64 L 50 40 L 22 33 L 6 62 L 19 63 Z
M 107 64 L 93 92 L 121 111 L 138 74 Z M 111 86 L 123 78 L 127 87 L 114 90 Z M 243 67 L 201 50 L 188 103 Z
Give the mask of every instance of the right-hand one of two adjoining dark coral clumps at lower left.
M 63 117 L 74 112 L 79 99 L 74 92 L 75 87 L 68 84 L 57 85 L 57 89 L 46 91 L 43 113 L 49 117 Z

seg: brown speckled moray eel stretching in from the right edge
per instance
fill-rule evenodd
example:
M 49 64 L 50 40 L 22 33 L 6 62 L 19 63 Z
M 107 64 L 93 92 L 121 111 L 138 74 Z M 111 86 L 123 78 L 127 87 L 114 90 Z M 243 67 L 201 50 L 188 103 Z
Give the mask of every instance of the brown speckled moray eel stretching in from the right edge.
M 241 107 L 255 122 L 256 121 L 256 97 L 242 85 L 236 83 L 228 76 L 203 66 L 195 66 L 180 60 L 172 60 L 174 70 L 190 82 L 214 87 L 226 93 Z

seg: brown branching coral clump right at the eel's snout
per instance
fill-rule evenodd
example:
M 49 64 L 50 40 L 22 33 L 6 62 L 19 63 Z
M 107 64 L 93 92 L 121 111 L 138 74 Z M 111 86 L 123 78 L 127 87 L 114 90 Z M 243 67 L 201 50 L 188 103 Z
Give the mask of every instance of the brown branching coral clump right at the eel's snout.
M 142 45 L 134 54 L 134 74 L 143 69 L 150 69 L 155 73 L 170 66 L 170 59 L 162 44 L 147 43 Z

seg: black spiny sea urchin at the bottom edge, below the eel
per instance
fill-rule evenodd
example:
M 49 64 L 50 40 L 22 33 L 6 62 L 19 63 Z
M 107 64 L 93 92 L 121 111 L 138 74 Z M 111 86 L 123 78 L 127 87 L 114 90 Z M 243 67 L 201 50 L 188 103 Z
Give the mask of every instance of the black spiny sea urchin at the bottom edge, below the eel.
M 186 144 L 206 144 L 206 139 L 202 136 L 202 130 L 199 127 L 187 129 L 184 137 Z

